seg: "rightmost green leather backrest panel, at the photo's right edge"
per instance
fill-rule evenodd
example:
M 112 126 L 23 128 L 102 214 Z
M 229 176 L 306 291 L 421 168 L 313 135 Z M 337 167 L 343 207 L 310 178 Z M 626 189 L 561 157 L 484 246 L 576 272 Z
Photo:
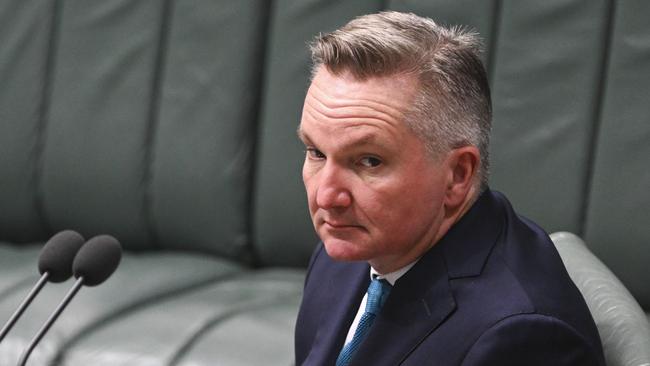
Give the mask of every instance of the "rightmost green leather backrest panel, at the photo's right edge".
M 650 3 L 619 1 L 602 103 L 586 242 L 650 309 Z

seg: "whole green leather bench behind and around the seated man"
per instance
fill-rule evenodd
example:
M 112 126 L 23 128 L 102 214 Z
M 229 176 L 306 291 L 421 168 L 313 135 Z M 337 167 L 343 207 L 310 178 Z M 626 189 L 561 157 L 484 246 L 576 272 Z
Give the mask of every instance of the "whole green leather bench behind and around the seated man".
M 306 42 L 383 9 L 481 33 L 492 188 L 584 238 L 650 312 L 648 2 L 2 0 L 0 321 L 52 234 L 126 250 L 30 365 L 292 363 L 317 240 L 295 136 Z M 45 288 L 1 365 L 70 285 Z

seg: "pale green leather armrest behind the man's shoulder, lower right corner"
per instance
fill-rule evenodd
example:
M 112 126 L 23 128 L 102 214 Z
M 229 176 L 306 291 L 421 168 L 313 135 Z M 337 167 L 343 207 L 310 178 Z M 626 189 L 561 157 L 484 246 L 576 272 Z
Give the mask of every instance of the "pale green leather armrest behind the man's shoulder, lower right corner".
M 574 234 L 551 235 L 596 321 L 608 366 L 650 365 L 650 322 L 616 276 Z

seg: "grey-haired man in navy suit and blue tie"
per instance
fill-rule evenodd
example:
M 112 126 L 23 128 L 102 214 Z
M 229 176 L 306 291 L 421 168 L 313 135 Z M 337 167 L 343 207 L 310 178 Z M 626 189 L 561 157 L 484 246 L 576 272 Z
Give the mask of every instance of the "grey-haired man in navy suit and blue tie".
M 298 365 L 604 365 L 550 239 L 487 186 L 478 48 L 396 12 L 312 44 Z

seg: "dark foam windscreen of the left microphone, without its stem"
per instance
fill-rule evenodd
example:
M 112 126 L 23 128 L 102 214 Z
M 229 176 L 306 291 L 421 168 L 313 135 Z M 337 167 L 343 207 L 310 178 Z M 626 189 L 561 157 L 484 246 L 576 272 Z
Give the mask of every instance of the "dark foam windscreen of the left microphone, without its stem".
M 61 231 L 45 243 L 38 257 L 38 271 L 48 272 L 48 281 L 63 282 L 72 276 L 72 261 L 84 238 L 72 230 Z

